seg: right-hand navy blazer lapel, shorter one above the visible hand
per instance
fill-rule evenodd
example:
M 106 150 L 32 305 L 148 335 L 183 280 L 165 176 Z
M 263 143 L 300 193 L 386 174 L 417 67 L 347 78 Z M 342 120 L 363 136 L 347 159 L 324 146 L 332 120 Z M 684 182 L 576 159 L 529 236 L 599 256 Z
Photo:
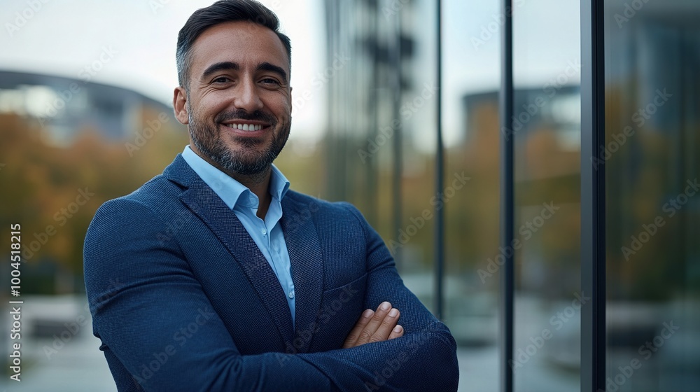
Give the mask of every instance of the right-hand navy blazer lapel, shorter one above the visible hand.
M 323 254 L 311 210 L 317 208 L 293 200 L 282 200 L 282 230 L 292 266 L 295 295 L 296 352 L 307 352 L 316 330 L 323 295 Z

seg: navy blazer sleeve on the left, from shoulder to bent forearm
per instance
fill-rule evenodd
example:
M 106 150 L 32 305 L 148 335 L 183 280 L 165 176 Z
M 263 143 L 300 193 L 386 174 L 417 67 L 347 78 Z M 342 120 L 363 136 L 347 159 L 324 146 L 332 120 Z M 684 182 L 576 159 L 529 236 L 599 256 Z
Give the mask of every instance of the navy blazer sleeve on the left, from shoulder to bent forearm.
M 337 391 L 301 356 L 241 355 L 163 222 L 122 199 L 87 230 L 93 330 L 119 391 Z

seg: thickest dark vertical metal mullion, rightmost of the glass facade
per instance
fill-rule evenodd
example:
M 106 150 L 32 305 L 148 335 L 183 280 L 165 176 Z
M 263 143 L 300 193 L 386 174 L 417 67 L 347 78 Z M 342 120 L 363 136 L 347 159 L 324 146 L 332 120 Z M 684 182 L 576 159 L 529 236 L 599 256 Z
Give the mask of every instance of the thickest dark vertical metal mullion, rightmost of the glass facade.
M 603 1 L 581 0 L 581 391 L 605 390 L 605 59 Z

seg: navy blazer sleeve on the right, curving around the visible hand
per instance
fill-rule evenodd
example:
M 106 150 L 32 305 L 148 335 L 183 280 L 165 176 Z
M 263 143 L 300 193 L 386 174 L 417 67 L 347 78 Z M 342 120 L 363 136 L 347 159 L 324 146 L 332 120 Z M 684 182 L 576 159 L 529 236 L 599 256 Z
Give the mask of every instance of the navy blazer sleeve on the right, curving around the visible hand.
M 344 203 L 365 231 L 369 276 L 365 308 L 383 301 L 401 312 L 402 337 L 352 349 L 300 354 L 328 374 L 342 391 L 456 391 L 456 343 L 400 279 L 391 253 L 379 234 L 351 204 Z

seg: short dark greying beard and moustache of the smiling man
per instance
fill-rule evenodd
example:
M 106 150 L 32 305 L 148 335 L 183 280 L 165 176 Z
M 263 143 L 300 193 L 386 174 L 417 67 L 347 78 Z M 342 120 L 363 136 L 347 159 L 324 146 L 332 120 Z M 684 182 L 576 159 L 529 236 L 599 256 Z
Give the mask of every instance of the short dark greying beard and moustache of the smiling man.
M 190 110 L 190 113 L 193 112 Z M 272 141 L 259 150 L 258 147 L 265 143 L 264 139 L 234 136 L 234 140 L 241 146 L 239 151 L 235 151 L 222 140 L 222 132 L 218 129 L 218 125 L 227 120 L 263 121 L 269 124 Z M 221 113 L 216 116 L 214 123 L 216 124 L 214 126 L 200 123 L 196 116 L 190 115 L 188 129 L 192 143 L 200 153 L 216 162 L 225 171 L 244 176 L 267 173 L 272 162 L 284 148 L 291 127 L 290 118 L 278 123 L 276 118 L 263 111 L 248 113 L 244 110 Z

